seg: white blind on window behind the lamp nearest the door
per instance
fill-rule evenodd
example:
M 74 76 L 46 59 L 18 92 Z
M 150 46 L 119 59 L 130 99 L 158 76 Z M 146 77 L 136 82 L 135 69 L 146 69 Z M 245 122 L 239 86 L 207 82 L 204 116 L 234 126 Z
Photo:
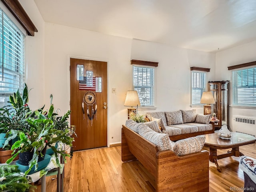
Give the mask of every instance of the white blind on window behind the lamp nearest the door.
M 154 68 L 134 66 L 133 82 L 140 106 L 154 106 Z

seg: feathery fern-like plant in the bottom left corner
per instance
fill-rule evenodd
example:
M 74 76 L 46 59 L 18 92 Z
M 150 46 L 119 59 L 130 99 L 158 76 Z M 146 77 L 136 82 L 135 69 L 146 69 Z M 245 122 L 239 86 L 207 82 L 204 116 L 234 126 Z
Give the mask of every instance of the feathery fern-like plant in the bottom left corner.
M 0 191 L 3 192 L 25 192 L 27 190 L 34 191 L 32 186 L 28 183 L 27 178 L 18 170 L 16 165 L 2 165 L 0 166 Z

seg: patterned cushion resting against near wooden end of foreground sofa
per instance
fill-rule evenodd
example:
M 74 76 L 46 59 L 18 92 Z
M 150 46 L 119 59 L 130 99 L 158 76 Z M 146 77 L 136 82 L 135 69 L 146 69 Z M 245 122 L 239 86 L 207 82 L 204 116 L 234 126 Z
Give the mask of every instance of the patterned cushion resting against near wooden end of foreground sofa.
M 175 142 L 173 152 L 178 155 L 186 155 L 201 151 L 205 142 L 205 136 L 190 137 Z

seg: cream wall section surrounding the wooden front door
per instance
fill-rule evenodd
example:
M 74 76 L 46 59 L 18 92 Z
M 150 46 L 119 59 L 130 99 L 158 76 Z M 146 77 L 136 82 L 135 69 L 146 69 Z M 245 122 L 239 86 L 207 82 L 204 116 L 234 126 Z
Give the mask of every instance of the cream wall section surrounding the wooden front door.
M 53 94 L 54 106 L 61 113 L 70 109 L 70 57 L 108 62 L 108 144 L 121 141 L 121 127 L 127 118 L 124 100 L 130 88 L 131 43 L 127 38 L 45 24 L 44 96 L 47 102 Z

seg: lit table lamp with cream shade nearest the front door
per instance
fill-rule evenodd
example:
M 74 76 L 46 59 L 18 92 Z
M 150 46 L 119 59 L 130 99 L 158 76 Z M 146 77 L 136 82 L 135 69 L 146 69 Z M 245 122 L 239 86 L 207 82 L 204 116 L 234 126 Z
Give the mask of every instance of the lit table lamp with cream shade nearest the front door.
M 131 108 L 128 108 L 128 119 L 130 118 L 130 114 L 138 112 L 138 106 L 140 106 L 140 100 L 139 100 L 137 91 L 127 91 L 124 106 L 131 107 Z M 134 106 L 137 106 L 137 109 L 134 108 Z

